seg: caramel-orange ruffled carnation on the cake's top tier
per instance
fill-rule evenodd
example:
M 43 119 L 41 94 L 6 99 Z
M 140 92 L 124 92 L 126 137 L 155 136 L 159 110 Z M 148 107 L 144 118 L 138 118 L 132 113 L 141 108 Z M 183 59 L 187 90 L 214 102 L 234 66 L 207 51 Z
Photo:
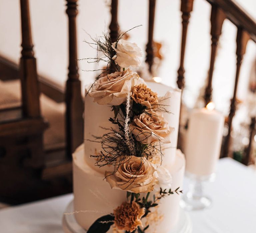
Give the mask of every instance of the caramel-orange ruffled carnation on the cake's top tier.
M 139 104 L 151 108 L 151 105 L 158 103 L 157 93 L 152 92 L 146 84 L 139 84 L 132 89 L 132 99 Z

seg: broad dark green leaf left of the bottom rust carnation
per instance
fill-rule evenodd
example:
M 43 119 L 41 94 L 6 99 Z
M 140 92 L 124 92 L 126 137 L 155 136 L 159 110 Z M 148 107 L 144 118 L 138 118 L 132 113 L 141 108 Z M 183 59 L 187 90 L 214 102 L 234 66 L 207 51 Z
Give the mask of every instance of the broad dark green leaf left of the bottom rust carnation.
M 87 233 L 106 233 L 111 225 L 114 224 L 115 217 L 111 214 L 98 218 L 88 229 Z M 109 222 L 112 221 L 112 222 Z M 106 223 L 104 223 L 106 222 Z

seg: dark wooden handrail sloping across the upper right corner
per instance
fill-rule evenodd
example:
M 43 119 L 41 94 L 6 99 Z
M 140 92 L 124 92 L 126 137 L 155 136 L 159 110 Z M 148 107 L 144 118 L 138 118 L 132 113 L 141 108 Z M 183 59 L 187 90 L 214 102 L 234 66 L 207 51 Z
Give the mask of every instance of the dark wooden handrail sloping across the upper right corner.
M 227 19 L 238 28 L 243 28 L 250 34 L 251 39 L 256 43 L 256 21 L 255 19 L 234 0 L 207 0 L 210 4 L 217 5 L 222 9 Z

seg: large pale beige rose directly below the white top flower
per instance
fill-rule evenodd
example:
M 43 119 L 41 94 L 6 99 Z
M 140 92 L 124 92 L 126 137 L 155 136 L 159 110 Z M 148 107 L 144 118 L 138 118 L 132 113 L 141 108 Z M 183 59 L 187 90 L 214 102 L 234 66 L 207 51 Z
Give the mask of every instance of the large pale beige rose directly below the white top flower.
M 99 78 L 89 93 L 100 105 L 120 105 L 131 95 L 132 87 L 143 83 L 136 72 L 127 69 Z

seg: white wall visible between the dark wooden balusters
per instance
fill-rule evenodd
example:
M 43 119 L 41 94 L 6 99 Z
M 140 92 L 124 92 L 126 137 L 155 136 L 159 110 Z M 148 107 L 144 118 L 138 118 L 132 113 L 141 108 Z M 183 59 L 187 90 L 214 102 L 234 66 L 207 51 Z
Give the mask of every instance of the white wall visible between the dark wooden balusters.
M 256 18 L 256 1 L 239 0 L 243 7 Z M 94 57 L 84 39 L 101 35 L 110 21 L 106 0 L 80 0 L 77 18 L 78 58 Z M 32 33 L 38 73 L 51 78 L 64 87 L 67 78 L 67 16 L 64 0 L 30 0 Z M 254 11 L 253 11 L 254 9 Z M 185 102 L 192 107 L 204 84 L 209 69 L 210 58 L 210 5 L 205 0 L 195 0 L 191 14 L 185 59 L 186 92 Z M 20 12 L 18 0 L 0 0 L 0 54 L 18 63 L 20 57 Z M 147 0 L 119 0 L 119 24 L 122 30 L 136 25 L 143 27 L 130 32 L 130 40 L 136 42 L 142 50 L 147 43 L 148 27 Z M 154 38 L 164 44 L 164 63 L 160 77 L 169 85 L 176 85 L 177 69 L 180 59 L 181 13 L 180 0 L 158 0 Z M 223 25 L 220 49 L 215 63 L 213 77 L 213 98 L 217 108 L 228 111 L 232 97 L 236 68 L 236 28 L 229 21 Z M 249 42 L 241 69 L 238 97 L 246 96 L 251 66 L 256 55 L 256 46 Z M 95 64 L 79 62 L 79 69 L 96 69 Z M 90 83 L 95 74 L 80 72 L 83 85 Z

